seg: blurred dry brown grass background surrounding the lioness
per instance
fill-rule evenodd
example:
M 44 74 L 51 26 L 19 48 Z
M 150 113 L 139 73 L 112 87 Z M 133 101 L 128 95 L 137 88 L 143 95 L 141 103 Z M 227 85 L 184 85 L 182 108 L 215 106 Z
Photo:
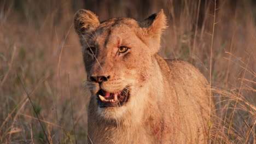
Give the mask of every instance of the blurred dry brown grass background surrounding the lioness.
M 159 55 L 188 61 L 211 80 L 212 143 L 256 142 L 256 1 L 1 0 L 0 143 L 87 142 L 89 93 L 73 27 L 82 8 L 100 21 L 143 21 L 164 9 Z

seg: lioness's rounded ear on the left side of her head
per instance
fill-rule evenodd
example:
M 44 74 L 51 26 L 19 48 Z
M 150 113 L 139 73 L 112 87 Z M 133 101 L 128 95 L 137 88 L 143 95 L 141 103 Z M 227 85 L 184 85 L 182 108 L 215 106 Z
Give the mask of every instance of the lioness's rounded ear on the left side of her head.
M 90 10 L 80 9 L 74 15 L 75 32 L 85 34 L 100 25 L 98 17 Z

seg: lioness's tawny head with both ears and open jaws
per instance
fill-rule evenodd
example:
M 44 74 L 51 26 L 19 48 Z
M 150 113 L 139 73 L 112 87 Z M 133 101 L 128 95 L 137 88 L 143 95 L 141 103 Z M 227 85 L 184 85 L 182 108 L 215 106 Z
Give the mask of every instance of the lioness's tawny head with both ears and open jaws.
M 161 28 L 156 20 L 162 12 L 144 22 L 115 18 L 99 22 L 95 14 L 80 10 L 75 14 L 75 30 L 83 46 L 87 86 L 92 103 L 102 117 L 119 118 L 139 100 L 139 89 L 152 71 L 152 56 L 158 51 Z M 160 29 L 160 30 L 159 30 Z

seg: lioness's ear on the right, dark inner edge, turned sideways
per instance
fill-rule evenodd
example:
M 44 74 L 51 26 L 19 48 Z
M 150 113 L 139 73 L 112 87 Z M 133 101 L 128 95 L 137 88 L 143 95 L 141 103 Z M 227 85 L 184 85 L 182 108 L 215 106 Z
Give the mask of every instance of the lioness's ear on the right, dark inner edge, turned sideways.
M 148 43 L 154 47 L 154 52 L 157 52 L 160 49 L 162 31 L 167 28 L 164 10 L 161 9 L 158 14 L 150 15 L 140 25 L 146 31 L 145 36 L 148 38 Z

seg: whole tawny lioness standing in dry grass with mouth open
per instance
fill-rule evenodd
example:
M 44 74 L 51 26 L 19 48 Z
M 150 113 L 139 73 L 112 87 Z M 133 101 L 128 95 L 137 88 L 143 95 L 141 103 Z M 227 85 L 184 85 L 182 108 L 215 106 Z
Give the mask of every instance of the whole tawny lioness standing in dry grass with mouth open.
M 89 143 L 207 143 L 207 80 L 193 65 L 157 52 L 161 10 L 143 22 L 74 16 L 91 92 Z

